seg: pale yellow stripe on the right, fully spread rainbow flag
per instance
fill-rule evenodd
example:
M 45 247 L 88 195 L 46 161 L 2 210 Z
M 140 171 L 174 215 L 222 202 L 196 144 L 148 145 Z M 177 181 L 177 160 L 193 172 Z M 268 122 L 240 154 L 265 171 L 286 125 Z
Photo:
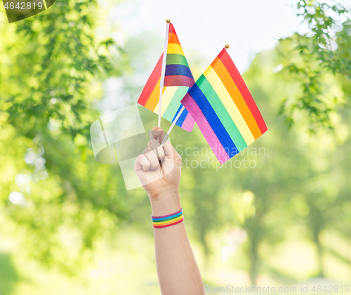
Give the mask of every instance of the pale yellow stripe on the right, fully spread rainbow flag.
M 237 129 L 239 129 L 241 136 L 244 138 L 246 145 L 250 145 L 255 141 L 253 134 L 251 133 L 249 126 L 247 126 L 244 117 L 242 117 L 237 105 L 232 100 L 230 93 L 225 88 L 223 82 L 218 77 L 218 74 L 213 70 L 211 65 L 204 72 L 204 76 L 210 82 L 213 90 L 216 91 L 223 105 L 227 109 L 230 117 L 232 117 Z

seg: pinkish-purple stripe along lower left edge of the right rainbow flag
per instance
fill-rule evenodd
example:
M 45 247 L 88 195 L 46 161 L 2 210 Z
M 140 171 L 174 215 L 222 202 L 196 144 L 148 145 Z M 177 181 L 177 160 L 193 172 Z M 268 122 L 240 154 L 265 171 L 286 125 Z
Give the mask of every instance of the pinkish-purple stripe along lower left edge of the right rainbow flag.
M 194 99 L 190 96 L 189 93 L 187 93 L 183 100 L 181 100 L 181 103 L 192 115 L 195 122 L 197 122 L 197 126 L 199 126 L 201 133 L 204 134 L 208 145 L 210 145 L 220 164 L 223 164 L 224 162 L 229 160 L 230 157 L 228 156 L 227 152 L 225 152 L 223 145 L 220 143 L 220 140 L 218 140 L 218 137 L 213 132 L 213 129 L 211 128 L 210 124 L 208 124 L 206 117 L 201 112 L 199 106 L 197 105 L 197 103 L 195 103 Z

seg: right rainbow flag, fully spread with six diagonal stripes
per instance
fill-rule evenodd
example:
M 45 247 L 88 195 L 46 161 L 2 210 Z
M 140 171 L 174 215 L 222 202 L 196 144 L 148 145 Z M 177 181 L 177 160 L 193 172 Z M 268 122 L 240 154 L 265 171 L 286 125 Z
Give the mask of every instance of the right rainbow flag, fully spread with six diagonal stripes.
M 220 164 L 253 143 L 267 126 L 224 48 L 181 101 Z

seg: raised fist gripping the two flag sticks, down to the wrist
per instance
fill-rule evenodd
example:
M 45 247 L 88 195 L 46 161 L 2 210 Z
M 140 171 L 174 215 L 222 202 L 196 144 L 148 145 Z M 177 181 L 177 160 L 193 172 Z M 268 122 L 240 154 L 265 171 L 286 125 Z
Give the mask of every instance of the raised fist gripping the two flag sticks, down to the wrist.
M 169 197 L 179 198 L 182 158 L 168 140 L 161 147 L 164 136 L 161 128 L 154 127 L 148 147 L 135 161 L 135 173 L 152 203 Z

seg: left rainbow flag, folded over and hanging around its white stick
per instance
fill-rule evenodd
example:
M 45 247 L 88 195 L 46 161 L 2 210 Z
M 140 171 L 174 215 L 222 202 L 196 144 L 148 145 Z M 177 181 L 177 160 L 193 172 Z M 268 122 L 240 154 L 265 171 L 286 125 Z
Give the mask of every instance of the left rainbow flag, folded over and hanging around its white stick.
M 194 77 L 185 58 L 182 46 L 180 46 L 176 30 L 173 25 L 169 24 L 168 44 L 166 55 L 166 67 L 164 71 L 161 116 L 170 122 L 176 119 L 183 105 L 180 100 L 184 98 L 190 87 L 194 85 Z M 140 95 L 138 103 L 148 110 L 159 114 L 159 88 L 161 85 L 162 60 L 161 55 L 159 61 L 152 71 L 150 78 Z M 194 119 L 184 110 L 180 115 L 176 125 L 191 132 L 194 127 Z

